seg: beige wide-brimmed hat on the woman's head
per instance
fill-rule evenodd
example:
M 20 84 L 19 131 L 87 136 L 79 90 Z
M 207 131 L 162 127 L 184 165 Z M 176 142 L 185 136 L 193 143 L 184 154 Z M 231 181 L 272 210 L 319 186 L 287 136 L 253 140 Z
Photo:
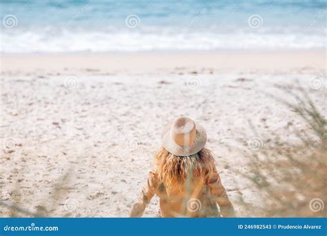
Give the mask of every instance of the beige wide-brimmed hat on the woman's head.
M 166 125 L 161 132 L 164 148 L 176 156 L 189 156 L 204 148 L 206 130 L 188 117 L 178 117 Z

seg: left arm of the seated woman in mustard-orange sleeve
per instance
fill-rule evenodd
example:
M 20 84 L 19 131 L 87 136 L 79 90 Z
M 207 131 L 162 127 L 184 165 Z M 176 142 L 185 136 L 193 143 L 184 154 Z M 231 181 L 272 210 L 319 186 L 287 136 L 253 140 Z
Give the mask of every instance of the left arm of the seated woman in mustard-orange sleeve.
M 143 212 L 146 209 L 146 205 L 149 204 L 153 195 L 155 195 L 155 193 L 157 192 L 157 186 L 157 175 L 150 171 L 146 187 L 142 189 L 139 201 L 137 201 L 137 203 L 132 206 L 130 217 L 142 217 Z

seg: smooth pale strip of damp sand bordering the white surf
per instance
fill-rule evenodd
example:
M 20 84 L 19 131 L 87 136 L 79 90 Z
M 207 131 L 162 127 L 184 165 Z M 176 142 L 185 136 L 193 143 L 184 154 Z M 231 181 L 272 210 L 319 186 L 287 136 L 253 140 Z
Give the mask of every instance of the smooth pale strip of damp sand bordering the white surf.
M 296 50 L 271 52 L 174 52 L 135 54 L 88 54 L 88 55 L 1 55 L 1 74 L 20 71 L 23 73 L 47 70 L 48 72 L 95 72 L 110 73 L 158 73 L 163 71 L 192 70 L 201 74 L 209 72 L 248 72 L 268 70 L 289 72 L 295 70 L 325 70 L 324 50 Z

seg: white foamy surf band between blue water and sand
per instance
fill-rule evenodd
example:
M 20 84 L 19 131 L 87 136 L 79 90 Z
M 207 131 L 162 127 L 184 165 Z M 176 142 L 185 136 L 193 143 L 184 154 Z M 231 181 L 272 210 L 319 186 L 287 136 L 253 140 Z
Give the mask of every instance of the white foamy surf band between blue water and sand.
M 315 33 L 183 32 L 150 30 L 3 30 L 1 53 L 142 52 L 151 50 L 275 50 L 326 48 L 326 29 Z

